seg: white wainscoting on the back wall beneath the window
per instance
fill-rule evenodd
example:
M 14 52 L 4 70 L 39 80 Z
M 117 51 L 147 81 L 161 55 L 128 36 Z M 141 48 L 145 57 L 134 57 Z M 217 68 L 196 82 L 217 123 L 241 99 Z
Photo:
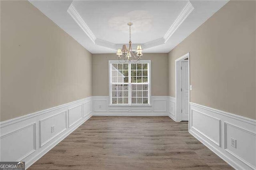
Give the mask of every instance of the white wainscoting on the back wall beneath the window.
M 110 105 L 108 96 L 94 96 L 93 115 L 96 116 L 168 116 L 168 96 L 152 96 L 152 105 Z

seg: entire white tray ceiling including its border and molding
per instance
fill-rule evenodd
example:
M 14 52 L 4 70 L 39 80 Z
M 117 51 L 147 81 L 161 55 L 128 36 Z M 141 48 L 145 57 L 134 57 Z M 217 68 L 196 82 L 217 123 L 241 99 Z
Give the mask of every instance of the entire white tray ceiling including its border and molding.
M 167 53 L 227 0 L 30 0 L 91 53 L 115 53 L 131 39 L 146 53 Z

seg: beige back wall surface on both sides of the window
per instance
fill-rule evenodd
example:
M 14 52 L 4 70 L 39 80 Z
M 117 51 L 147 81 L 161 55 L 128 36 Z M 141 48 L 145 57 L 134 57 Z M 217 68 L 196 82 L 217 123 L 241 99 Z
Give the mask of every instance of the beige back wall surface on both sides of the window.
M 92 54 L 92 95 L 108 96 L 108 60 L 116 54 Z M 168 54 L 144 53 L 142 59 L 151 60 L 152 96 L 168 96 Z

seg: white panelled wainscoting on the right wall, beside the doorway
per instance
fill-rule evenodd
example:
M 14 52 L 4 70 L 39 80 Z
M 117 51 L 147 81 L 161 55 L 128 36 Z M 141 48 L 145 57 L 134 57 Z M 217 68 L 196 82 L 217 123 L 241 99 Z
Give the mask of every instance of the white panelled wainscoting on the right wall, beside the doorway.
M 195 103 L 190 103 L 189 116 L 190 134 L 220 158 L 235 169 L 256 169 L 256 120 Z

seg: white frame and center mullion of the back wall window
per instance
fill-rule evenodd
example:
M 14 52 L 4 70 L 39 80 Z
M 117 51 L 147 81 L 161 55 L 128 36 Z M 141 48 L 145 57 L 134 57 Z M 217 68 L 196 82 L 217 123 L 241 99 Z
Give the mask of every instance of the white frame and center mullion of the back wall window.
M 129 93 L 129 98 L 128 98 L 128 104 L 112 104 L 112 91 L 111 91 L 111 67 L 110 64 L 120 64 L 118 60 L 109 60 L 108 61 L 108 86 L 109 86 L 109 105 L 110 106 L 151 106 L 151 60 L 140 60 L 138 64 L 145 64 L 148 63 L 148 104 L 132 104 L 132 83 L 131 83 L 131 64 L 133 62 L 131 61 L 130 63 L 126 61 L 125 63 L 129 64 L 129 81 L 128 81 L 128 93 Z M 123 63 L 123 64 L 125 64 Z M 125 84 L 125 83 L 122 83 Z M 145 83 L 136 83 L 136 84 L 145 84 Z

